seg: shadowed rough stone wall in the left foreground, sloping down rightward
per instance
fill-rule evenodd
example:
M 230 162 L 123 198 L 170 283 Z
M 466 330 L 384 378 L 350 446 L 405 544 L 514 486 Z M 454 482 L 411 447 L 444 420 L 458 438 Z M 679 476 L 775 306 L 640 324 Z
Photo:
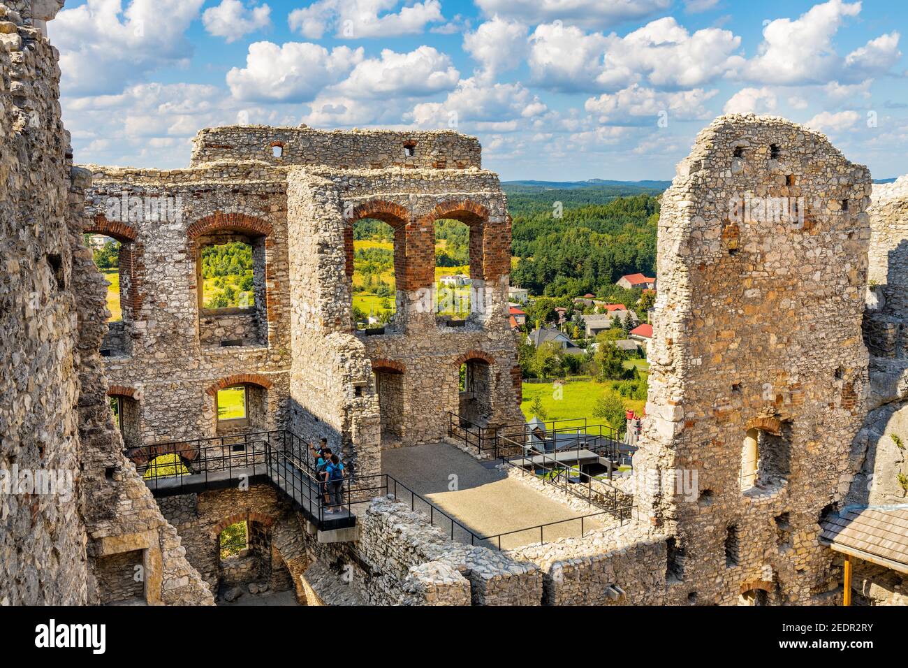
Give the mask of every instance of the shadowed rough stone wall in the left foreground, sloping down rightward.
M 46 21 L 62 3 L 47 5 L 0 4 L 0 461 L 65 482 L 63 493 L 3 495 L 2 600 L 116 600 L 139 587 L 108 576 L 141 558 L 145 603 L 211 603 L 111 419 L 104 282 L 82 243 L 90 177 L 73 168 L 60 122 L 56 52 L 25 11 L 40 7 L 32 18 Z

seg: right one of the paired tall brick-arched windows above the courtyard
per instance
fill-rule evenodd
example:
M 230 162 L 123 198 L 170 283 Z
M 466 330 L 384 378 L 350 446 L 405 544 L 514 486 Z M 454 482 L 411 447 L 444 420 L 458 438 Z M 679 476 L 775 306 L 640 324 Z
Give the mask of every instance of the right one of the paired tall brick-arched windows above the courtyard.
M 469 315 L 470 229 L 456 220 L 435 221 L 435 312 L 448 321 Z

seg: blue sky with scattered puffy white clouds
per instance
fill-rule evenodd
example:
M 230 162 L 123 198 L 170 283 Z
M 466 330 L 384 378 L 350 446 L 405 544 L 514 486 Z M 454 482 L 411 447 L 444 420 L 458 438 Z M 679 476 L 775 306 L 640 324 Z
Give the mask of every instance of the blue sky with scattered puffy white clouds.
M 454 127 L 503 179 L 668 179 L 730 112 L 908 172 L 908 4 L 66 0 L 80 163 L 179 167 L 202 127 Z

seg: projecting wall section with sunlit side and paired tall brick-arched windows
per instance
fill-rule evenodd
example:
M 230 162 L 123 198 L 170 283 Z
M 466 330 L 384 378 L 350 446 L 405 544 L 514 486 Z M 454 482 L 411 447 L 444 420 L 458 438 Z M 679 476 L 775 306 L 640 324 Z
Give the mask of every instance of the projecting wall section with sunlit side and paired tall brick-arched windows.
M 511 374 L 517 355 L 507 325 L 509 269 L 501 260 L 509 258 L 510 226 L 493 174 L 294 168 L 288 200 L 294 430 L 346 448 L 358 443 L 360 473 L 377 471 L 370 463 L 378 462 L 381 418 L 371 372 L 402 374 L 386 385 L 397 390 L 387 405 L 401 409 L 385 416 L 394 439 L 427 443 L 444 437 L 449 411 L 458 413 L 459 366 L 473 359 L 491 367 L 489 422 L 522 421 Z M 390 221 L 400 233 L 397 313 L 383 334 L 354 332 L 352 321 L 347 233 L 365 217 Z M 475 308 L 463 327 L 439 321 L 432 306 L 433 223 L 443 217 L 468 221 L 482 240 L 470 262 Z

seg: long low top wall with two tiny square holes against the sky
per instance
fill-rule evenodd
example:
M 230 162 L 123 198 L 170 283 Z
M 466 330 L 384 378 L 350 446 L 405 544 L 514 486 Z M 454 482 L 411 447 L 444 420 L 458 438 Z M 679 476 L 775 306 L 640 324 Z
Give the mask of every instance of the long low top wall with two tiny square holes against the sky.
M 192 140 L 190 165 L 223 160 L 271 165 L 391 166 L 467 169 L 481 166 L 479 139 L 452 130 L 316 130 L 267 125 L 202 129 Z

